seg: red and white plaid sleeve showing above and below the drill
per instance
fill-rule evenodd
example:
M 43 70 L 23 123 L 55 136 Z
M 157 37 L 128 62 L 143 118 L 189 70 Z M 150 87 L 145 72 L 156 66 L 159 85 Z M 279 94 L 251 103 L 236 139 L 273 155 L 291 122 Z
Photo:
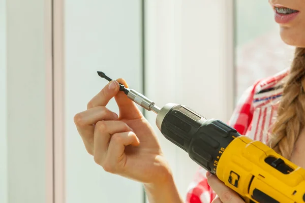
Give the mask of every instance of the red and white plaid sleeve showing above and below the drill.
M 259 81 L 242 94 L 228 123 L 243 135 L 252 121 L 252 100 L 258 83 Z M 187 203 L 210 203 L 216 197 L 217 194 L 209 187 L 205 174 L 206 170 L 199 167 L 194 180 L 189 185 Z

